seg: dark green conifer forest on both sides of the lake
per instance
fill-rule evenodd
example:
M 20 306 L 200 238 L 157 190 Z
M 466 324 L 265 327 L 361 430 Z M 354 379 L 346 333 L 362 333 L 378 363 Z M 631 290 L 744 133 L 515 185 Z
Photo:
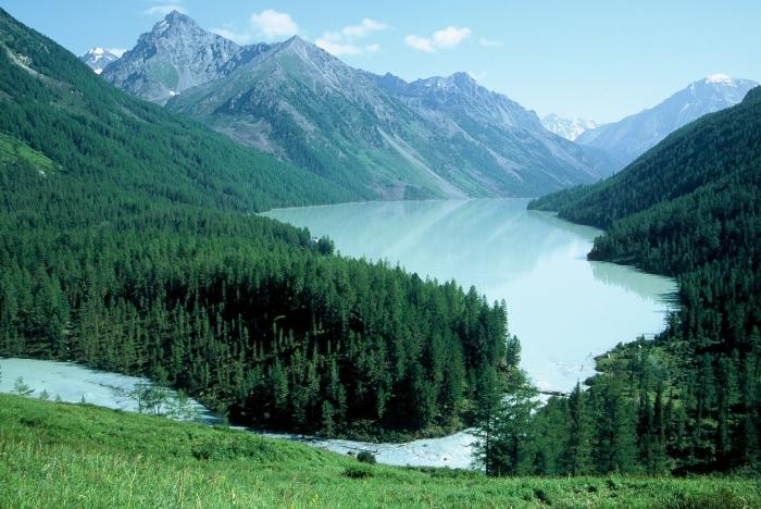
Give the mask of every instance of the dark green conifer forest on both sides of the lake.
M 149 376 L 272 430 L 475 426 L 489 475 L 758 472 L 761 89 L 532 202 L 606 229 L 589 259 L 676 277 L 681 305 L 541 405 L 504 302 L 257 215 L 355 188 L 122 94 L 2 10 L 0 111 L 0 356 Z

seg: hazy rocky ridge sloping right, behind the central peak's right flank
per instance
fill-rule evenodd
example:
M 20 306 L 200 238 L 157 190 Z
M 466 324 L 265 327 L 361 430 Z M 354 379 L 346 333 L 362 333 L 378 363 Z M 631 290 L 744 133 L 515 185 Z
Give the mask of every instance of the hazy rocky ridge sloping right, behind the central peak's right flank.
M 374 76 L 414 111 L 445 146 L 458 147 L 449 157 L 488 179 L 490 172 L 508 175 L 534 193 L 572 181 L 596 181 L 609 174 L 609 161 L 547 132 L 533 111 L 478 85 L 466 73 L 404 84 L 390 75 Z M 508 181 L 515 186 L 515 182 Z M 510 194 L 502 188 L 499 193 Z

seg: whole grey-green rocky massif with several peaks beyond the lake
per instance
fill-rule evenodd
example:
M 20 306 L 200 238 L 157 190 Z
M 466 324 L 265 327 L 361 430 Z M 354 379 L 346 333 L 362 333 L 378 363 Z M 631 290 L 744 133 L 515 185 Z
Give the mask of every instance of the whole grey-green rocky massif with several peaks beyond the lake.
M 538 196 L 609 174 L 465 74 L 408 84 L 299 37 L 239 47 L 176 12 L 103 77 L 366 199 Z

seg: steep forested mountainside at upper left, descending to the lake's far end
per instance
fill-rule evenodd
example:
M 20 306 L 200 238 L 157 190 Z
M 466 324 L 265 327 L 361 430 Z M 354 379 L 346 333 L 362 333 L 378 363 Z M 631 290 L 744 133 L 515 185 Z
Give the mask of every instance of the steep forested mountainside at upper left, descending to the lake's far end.
M 0 10 L 0 132 L 63 166 L 172 201 L 264 210 L 353 195 L 118 92 Z

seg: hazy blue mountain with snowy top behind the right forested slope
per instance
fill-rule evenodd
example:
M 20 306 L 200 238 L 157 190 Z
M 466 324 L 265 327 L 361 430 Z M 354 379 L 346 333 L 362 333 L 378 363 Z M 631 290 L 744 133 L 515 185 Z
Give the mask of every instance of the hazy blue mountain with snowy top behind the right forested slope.
M 606 150 L 623 167 L 683 125 L 737 104 L 756 86 L 758 83 L 750 79 L 714 74 L 690 84 L 654 108 L 586 131 L 576 142 Z

